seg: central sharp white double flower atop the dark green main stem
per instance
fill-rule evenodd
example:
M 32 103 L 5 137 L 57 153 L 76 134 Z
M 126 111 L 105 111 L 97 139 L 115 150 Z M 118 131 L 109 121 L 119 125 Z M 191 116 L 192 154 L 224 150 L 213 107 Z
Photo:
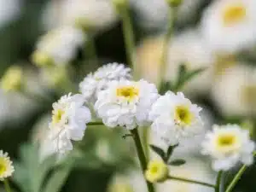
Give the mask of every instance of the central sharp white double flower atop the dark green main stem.
M 143 79 L 113 81 L 107 90 L 99 92 L 95 109 L 105 125 L 131 130 L 148 125 L 148 113 L 157 98 L 155 85 Z

